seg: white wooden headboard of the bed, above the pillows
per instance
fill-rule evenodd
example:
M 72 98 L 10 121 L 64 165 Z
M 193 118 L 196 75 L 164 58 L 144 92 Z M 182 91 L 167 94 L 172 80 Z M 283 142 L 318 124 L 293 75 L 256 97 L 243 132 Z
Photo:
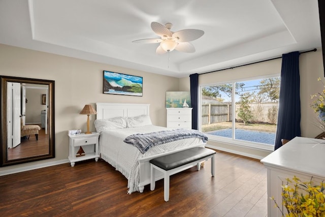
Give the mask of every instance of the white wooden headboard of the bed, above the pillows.
M 149 115 L 150 104 L 137 103 L 96 103 L 97 119 L 112 117 L 134 117 Z

